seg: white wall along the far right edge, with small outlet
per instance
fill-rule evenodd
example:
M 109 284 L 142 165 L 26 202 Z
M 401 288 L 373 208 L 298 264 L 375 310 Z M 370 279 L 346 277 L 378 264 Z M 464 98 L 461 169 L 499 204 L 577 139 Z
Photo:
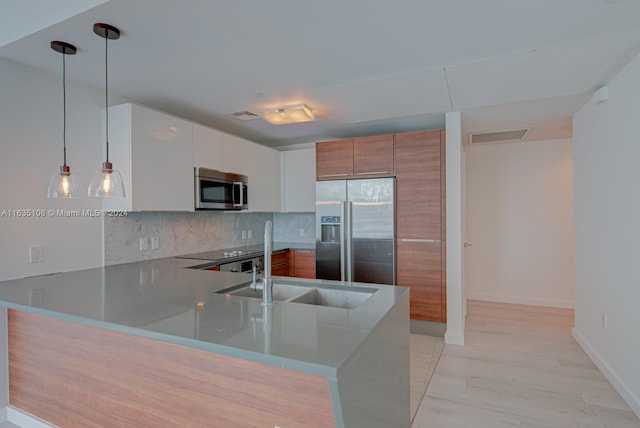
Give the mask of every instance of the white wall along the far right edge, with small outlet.
M 640 415 L 638 76 L 640 55 L 574 116 L 574 337 Z

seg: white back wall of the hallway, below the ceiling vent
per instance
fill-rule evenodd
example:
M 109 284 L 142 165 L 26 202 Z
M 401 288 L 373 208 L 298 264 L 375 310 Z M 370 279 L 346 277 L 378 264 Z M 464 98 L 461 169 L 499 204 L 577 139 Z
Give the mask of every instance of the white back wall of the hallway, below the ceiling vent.
M 571 140 L 466 154 L 467 298 L 573 307 Z

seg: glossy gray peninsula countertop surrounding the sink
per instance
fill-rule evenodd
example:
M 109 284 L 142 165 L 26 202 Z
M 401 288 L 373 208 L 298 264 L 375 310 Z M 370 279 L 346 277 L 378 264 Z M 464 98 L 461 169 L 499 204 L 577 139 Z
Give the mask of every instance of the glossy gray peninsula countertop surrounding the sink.
M 279 301 L 266 308 L 259 299 L 216 293 L 249 282 L 250 275 L 187 269 L 206 261 L 166 258 L 3 281 L 0 305 L 335 377 L 408 293 L 405 287 L 282 277 L 377 291 L 355 309 Z

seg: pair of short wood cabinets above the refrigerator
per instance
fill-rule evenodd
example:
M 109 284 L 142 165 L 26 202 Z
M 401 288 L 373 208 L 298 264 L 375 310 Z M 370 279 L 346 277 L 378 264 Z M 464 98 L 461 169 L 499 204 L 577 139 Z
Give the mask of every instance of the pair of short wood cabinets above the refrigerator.
M 394 166 L 393 135 L 316 143 L 318 180 L 390 177 Z

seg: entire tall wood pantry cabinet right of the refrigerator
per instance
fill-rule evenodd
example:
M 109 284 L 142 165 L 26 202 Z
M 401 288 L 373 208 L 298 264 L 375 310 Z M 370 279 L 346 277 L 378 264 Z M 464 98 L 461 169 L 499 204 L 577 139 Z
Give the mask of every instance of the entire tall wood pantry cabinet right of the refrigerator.
M 397 284 L 411 288 L 411 318 L 446 322 L 444 131 L 397 134 Z

